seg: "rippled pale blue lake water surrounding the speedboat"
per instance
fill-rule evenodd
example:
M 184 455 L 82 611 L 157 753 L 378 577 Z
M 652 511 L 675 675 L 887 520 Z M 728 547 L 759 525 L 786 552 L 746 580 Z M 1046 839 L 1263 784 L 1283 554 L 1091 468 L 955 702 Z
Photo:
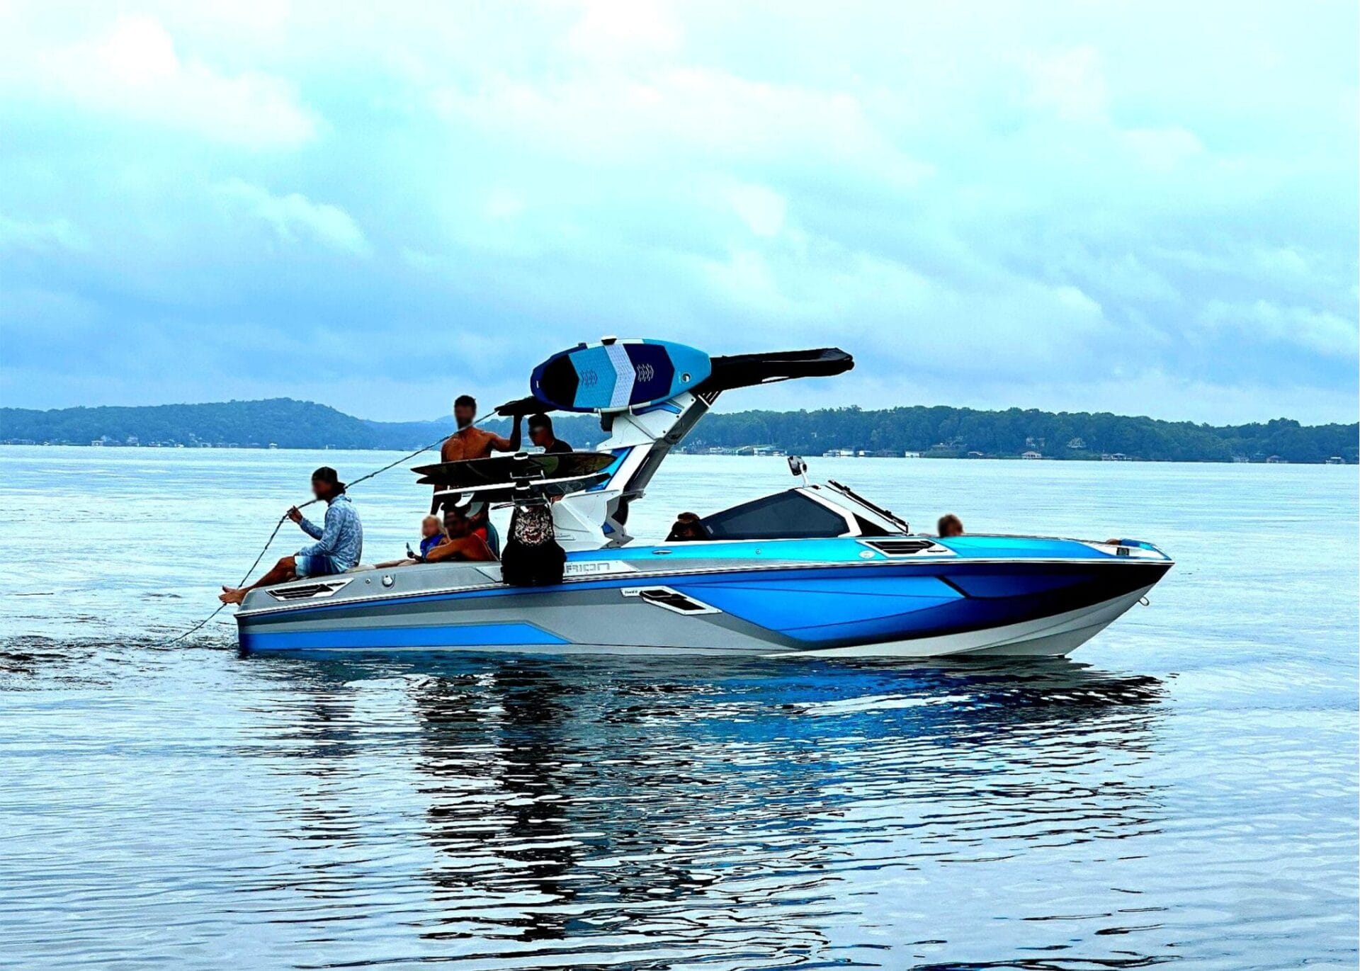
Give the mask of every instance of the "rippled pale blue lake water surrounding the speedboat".
M 0 966 L 1356 967 L 1355 466 L 811 462 L 1176 558 L 1070 661 L 166 646 L 394 457 L 0 447 Z M 676 457 L 634 526 L 787 484 Z M 415 540 L 408 473 L 354 498 Z

